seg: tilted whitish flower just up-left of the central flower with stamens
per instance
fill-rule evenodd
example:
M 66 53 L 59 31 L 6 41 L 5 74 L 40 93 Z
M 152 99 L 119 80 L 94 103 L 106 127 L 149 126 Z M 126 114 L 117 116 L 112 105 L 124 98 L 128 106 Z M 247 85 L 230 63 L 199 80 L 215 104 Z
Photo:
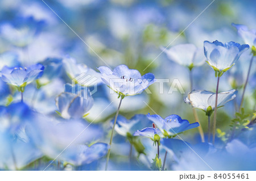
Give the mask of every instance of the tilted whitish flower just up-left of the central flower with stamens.
M 63 59 L 63 65 L 69 78 L 82 86 L 93 86 L 101 83 L 101 74 L 88 68 L 85 64 L 77 64 L 74 58 L 66 56 Z

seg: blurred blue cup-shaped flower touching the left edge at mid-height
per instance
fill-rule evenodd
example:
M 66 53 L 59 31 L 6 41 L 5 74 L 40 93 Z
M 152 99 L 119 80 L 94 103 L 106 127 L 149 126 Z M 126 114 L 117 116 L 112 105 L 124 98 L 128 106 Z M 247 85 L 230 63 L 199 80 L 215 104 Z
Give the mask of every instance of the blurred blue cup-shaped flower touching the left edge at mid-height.
M 1 71 L 1 78 L 10 85 L 20 88 L 40 78 L 43 75 L 43 70 L 42 64 L 31 65 L 27 68 L 5 66 Z

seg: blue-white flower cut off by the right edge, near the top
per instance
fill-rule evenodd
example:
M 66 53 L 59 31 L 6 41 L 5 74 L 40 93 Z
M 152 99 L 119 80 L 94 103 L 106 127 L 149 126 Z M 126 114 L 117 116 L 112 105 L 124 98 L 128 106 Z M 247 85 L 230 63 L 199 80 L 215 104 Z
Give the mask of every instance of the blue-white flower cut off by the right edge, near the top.
M 237 28 L 237 33 L 245 41 L 246 44 L 249 44 L 250 47 L 256 47 L 256 29 L 249 30 L 247 26 L 242 24 L 234 24 L 232 26 Z

